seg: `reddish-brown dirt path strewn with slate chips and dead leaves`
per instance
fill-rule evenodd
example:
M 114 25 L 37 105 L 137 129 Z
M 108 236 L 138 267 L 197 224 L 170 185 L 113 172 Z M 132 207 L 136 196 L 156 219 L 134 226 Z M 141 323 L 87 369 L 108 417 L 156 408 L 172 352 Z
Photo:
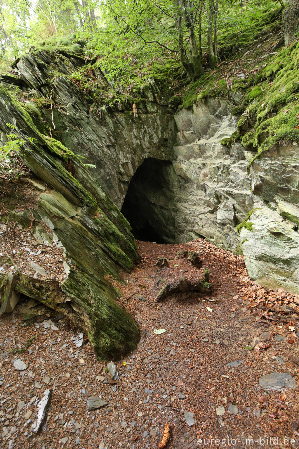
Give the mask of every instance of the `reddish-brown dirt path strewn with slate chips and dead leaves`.
M 222 447 L 241 448 L 249 438 L 254 447 L 270 447 L 267 437 L 268 442 L 277 437 L 281 447 L 295 447 L 284 443 L 285 436 L 298 445 L 298 388 L 264 393 L 259 383 L 276 372 L 290 373 L 290 385 L 299 384 L 298 365 L 288 359 L 299 355 L 298 298 L 256 286 L 247 277 L 243 256 L 204 240 L 137 243 L 142 260 L 132 273 L 122 273 L 125 285 L 117 287 L 142 336 L 136 351 L 114 361 L 118 383 L 96 379 L 107 377 L 106 364 L 95 360 L 88 340 L 82 348 L 75 346 L 75 334 L 63 320 L 56 320 L 58 330 L 44 323 L 22 327 L 18 308 L 1 320 L 1 448 L 154 449 L 167 421 L 172 434 L 167 447 L 173 449 L 219 447 L 215 439 L 222 440 Z M 202 268 L 174 260 L 182 249 L 199 251 Z M 160 256 L 169 259 L 168 268 L 158 269 Z M 158 277 L 192 280 L 204 268 L 213 285 L 210 295 L 176 294 L 154 303 Z M 165 332 L 156 335 L 155 329 Z M 264 332 L 269 334 L 252 349 L 254 337 Z M 24 352 L 16 353 L 20 348 Z M 13 368 L 17 358 L 28 365 L 25 371 Z M 226 366 L 230 362 L 237 363 Z M 32 435 L 36 405 L 46 388 L 52 390 L 47 419 L 39 435 Z M 109 404 L 87 411 L 93 395 Z M 193 419 L 189 426 L 186 420 L 192 424 Z M 236 442 L 228 441 L 233 438 Z

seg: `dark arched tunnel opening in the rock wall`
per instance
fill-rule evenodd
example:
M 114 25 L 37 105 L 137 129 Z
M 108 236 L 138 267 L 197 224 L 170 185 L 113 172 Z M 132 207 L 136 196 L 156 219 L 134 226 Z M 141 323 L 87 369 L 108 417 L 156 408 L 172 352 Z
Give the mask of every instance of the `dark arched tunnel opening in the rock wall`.
M 138 167 L 121 208 L 136 239 L 175 242 L 177 185 L 178 178 L 171 161 L 147 158 Z

